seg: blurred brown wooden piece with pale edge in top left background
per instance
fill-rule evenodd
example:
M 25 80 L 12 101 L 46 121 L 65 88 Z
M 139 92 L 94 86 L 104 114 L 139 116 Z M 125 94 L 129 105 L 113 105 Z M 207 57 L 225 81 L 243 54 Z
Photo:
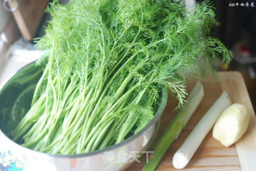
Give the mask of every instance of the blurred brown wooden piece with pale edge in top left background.
M 24 40 L 31 41 L 34 38 L 48 2 L 49 0 L 18 1 L 18 9 L 13 14 Z M 10 1 L 9 6 L 14 8 L 16 3 Z

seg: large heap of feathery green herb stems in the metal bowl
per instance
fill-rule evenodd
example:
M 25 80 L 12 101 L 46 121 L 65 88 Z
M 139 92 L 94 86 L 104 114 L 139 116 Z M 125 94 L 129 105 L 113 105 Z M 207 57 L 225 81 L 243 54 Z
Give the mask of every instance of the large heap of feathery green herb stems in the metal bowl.
M 230 61 L 210 29 L 209 2 L 189 15 L 170 0 L 52 2 L 38 50 L 45 65 L 30 110 L 10 131 L 14 141 L 44 153 L 89 153 L 138 133 L 168 88 L 182 106 L 185 81 Z

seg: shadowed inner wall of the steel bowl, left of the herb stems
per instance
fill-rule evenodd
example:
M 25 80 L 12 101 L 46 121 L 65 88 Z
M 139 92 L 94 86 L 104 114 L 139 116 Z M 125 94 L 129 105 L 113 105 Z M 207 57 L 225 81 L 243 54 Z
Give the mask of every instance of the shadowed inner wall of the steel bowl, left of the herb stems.
M 0 129 L 8 133 L 30 109 L 42 66 L 35 62 L 18 70 L 0 89 Z

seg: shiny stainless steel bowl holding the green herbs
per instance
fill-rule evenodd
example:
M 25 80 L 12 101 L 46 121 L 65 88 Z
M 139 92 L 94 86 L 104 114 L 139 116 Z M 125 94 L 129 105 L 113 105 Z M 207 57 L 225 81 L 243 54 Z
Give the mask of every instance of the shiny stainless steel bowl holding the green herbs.
M 92 153 L 54 155 L 27 149 L 10 140 L 6 133 L 20 120 L 20 115 L 30 108 L 35 85 L 42 75 L 42 66 L 35 62 L 24 66 L 5 84 L 0 86 L 0 142 L 24 165 L 24 170 L 122 170 L 135 161 L 138 153 L 145 152 L 152 140 L 157 122 L 166 106 L 167 90 L 163 89 L 161 102 L 154 118 L 144 129 L 118 145 Z M 19 114 L 17 114 L 19 113 Z

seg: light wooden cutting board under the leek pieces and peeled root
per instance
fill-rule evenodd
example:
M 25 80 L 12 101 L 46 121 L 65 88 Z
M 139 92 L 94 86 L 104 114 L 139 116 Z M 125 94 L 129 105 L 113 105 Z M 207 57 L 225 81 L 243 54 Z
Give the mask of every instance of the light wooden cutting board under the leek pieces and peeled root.
M 187 92 L 190 92 L 194 83 L 195 82 L 190 82 L 187 85 Z M 229 94 L 232 103 L 241 103 L 246 105 L 246 108 L 249 109 L 250 125 L 246 133 L 235 145 L 227 148 L 212 137 L 211 130 L 204 141 L 202 141 L 202 144 L 194 154 L 194 157 L 192 157 L 190 163 L 182 170 L 256 170 L 256 118 L 242 74 L 238 72 L 219 72 L 218 78 L 214 82 L 212 78 L 203 78 L 202 84 L 204 86 L 205 96 L 201 104 L 186 125 L 186 128 L 182 130 L 178 139 L 170 145 L 170 148 L 162 158 L 156 170 L 178 170 L 174 169 L 171 162 L 174 153 L 182 145 L 182 142 L 185 141 L 186 137 L 203 114 L 210 109 L 210 106 L 213 105 L 214 101 L 217 100 L 224 90 Z M 162 114 L 157 139 L 166 128 L 166 125 L 168 125 L 174 117 L 175 113 L 173 113 L 173 110 L 176 105 L 174 101 L 174 97 L 169 96 L 166 109 Z M 135 162 L 134 165 L 131 165 L 127 171 L 141 170 L 146 162 L 146 155 L 144 155 L 140 161 L 141 163 Z

